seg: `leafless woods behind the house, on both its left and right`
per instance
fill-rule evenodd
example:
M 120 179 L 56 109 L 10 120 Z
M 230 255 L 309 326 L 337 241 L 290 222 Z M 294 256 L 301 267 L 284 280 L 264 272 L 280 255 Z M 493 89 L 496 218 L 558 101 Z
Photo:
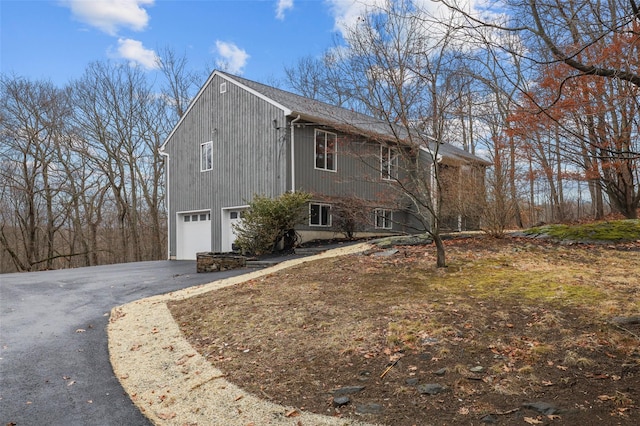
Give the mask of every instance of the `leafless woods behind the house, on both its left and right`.
M 485 228 L 637 218 L 636 1 L 467 5 L 372 7 L 281 86 L 488 158 Z M 65 87 L 1 76 L 0 272 L 165 258 L 157 147 L 204 78 L 160 56 L 160 78 L 111 62 Z

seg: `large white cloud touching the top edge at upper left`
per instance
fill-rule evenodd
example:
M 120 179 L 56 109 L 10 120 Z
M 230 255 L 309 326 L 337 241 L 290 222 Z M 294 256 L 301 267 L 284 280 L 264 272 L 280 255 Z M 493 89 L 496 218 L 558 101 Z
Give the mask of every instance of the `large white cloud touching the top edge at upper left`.
M 149 23 L 144 9 L 155 0 L 62 0 L 81 22 L 116 35 L 121 27 L 141 31 Z

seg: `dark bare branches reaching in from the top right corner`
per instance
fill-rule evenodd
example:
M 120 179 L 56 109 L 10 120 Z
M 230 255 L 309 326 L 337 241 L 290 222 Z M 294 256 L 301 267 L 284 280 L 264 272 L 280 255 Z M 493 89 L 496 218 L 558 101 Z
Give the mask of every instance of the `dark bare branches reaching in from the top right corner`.
M 594 46 L 609 44 L 618 37 L 637 40 L 640 11 L 636 0 L 509 0 L 502 4 L 500 14 L 490 6 L 482 11 L 487 13 L 481 13 L 469 10 L 467 2 L 442 0 L 442 3 L 465 16 L 474 29 L 493 28 L 516 33 L 530 47 L 548 51 L 552 59 L 543 59 L 546 63 L 563 62 L 578 75 L 614 78 L 640 85 L 640 74 L 633 60 L 634 53 L 635 58 L 638 57 L 637 43 L 626 58 L 618 58 L 615 63 L 603 63 L 601 58 L 586 54 Z M 495 41 L 490 42 L 490 47 L 505 48 Z M 535 56 L 526 59 L 541 62 Z

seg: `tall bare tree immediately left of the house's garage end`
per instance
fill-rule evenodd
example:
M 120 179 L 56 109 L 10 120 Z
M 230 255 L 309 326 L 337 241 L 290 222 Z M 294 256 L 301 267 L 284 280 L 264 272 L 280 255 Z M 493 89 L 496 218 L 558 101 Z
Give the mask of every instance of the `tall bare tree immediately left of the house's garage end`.
M 76 133 L 82 154 L 101 172 L 116 209 L 117 261 L 159 258 L 162 162 L 157 147 L 168 133 L 164 99 L 142 71 L 94 63 L 74 88 Z M 150 226 L 147 226 L 149 224 Z M 153 244 L 145 249 L 143 241 Z

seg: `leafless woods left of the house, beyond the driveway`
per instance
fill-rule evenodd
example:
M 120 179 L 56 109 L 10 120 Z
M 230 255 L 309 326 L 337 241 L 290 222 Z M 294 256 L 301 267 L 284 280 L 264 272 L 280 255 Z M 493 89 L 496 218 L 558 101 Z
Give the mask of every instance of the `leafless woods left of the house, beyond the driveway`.
M 165 52 L 165 85 L 139 68 L 89 65 L 66 87 L 1 80 L 0 272 L 166 256 L 158 146 L 195 79 Z

